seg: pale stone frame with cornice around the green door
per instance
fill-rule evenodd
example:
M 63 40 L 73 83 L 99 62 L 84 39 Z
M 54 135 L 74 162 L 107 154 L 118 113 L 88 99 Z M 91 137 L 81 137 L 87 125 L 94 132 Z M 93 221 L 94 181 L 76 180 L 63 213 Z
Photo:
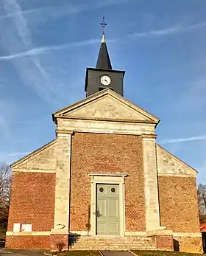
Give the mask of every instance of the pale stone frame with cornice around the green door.
M 119 185 L 119 234 L 125 233 L 125 196 L 124 179 L 127 174 L 92 173 L 91 177 L 91 202 L 90 202 L 90 235 L 96 235 L 96 184 Z M 121 214 L 123 213 L 123 214 Z

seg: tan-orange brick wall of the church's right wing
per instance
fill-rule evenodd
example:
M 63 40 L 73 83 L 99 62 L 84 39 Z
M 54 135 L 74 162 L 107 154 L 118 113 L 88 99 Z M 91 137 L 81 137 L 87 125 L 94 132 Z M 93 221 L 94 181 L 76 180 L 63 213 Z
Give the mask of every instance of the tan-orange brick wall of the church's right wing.
M 199 232 L 196 179 L 159 176 L 160 224 L 173 232 Z

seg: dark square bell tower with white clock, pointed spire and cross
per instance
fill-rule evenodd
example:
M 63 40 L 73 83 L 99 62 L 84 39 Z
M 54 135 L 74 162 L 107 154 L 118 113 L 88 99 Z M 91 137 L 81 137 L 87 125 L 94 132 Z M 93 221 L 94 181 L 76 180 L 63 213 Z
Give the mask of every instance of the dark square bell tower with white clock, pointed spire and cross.
M 85 77 L 86 97 L 102 91 L 106 88 L 116 91 L 124 96 L 123 80 L 125 71 L 115 70 L 112 68 L 110 55 L 107 50 L 104 28 L 106 22 L 101 23 L 102 26 L 102 42 L 99 49 L 99 55 L 96 62 L 96 68 L 87 68 Z

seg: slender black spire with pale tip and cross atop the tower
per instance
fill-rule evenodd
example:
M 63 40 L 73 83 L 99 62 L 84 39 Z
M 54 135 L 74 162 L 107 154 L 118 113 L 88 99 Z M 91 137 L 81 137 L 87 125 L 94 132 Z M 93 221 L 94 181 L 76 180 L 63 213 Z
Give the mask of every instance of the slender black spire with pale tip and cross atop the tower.
M 104 27 L 107 26 L 107 24 L 104 21 L 104 17 L 103 17 L 103 21 L 101 23 L 101 26 L 103 28 L 103 32 L 102 32 L 102 42 L 101 42 L 101 46 L 99 49 L 99 56 L 97 59 L 97 63 L 96 63 L 96 68 L 97 69 L 113 69 L 111 62 L 110 62 L 110 56 L 109 56 L 109 52 L 107 50 L 107 45 L 105 42 L 105 35 L 104 35 Z

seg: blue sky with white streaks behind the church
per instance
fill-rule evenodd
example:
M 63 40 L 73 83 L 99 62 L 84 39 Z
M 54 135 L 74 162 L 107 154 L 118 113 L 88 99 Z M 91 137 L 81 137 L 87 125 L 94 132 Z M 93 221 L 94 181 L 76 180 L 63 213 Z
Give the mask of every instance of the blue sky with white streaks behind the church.
M 51 113 L 85 98 L 107 21 L 124 97 L 160 118 L 157 142 L 206 184 L 206 1 L 0 0 L 0 161 L 55 138 Z

